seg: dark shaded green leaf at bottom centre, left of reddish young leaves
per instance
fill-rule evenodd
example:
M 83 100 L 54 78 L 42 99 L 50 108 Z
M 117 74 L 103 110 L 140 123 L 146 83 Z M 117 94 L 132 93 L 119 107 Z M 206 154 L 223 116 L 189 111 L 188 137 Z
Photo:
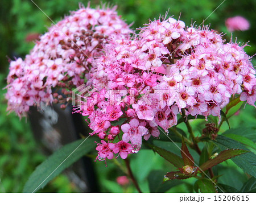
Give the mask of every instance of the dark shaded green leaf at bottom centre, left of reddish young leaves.
M 163 182 L 163 177 L 166 174 L 163 170 L 151 171 L 147 177 L 150 192 L 166 192 L 167 190 L 182 184 L 182 181 L 172 180 Z

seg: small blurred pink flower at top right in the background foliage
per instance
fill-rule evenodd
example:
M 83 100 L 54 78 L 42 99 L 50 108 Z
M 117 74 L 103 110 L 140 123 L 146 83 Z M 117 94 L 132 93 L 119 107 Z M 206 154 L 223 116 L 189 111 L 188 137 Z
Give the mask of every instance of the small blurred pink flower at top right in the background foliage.
M 236 30 L 245 31 L 249 30 L 250 28 L 249 21 L 242 16 L 234 16 L 233 18 L 228 18 L 226 19 L 225 24 L 229 32 L 233 32 Z

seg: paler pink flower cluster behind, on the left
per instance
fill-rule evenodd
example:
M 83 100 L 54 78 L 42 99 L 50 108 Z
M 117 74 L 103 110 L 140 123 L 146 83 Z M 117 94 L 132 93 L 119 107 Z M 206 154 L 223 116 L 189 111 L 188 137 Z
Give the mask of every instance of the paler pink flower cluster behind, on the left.
M 67 103 L 72 88 L 84 84 L 94 59 L 102 55 L 102 44 L 127 39 L 132 32 L 115 7 L 81 7 L 72 12 L 40 36 L 24 61 L 11 61 L 7 77 L 8 110 L 22 116 L 40 102 Z M 66 97 L 54 94 L 53 88 L 63 88 Z

